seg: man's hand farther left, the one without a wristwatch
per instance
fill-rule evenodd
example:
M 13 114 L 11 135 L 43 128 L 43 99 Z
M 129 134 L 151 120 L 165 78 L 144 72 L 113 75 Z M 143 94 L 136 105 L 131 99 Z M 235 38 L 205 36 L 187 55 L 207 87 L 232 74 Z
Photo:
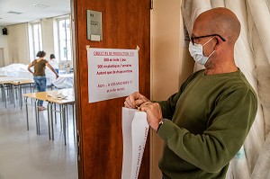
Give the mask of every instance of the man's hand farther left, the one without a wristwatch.
M 139 108 L 139 106 L 142 103 L 150 102 L 148 98 L 146 98 L 144 95 L 139 94 L 139 92 L 135 92 L 133 94 L 130 94 L 124 103 L 126 108 Z

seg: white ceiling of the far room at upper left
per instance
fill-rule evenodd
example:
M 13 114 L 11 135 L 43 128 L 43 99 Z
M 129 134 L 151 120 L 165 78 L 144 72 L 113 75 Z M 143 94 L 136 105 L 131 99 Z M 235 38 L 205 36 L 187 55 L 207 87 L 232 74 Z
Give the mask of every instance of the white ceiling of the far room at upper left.
M 0 26 L 70 13 L 70 0 L 0 0 Z

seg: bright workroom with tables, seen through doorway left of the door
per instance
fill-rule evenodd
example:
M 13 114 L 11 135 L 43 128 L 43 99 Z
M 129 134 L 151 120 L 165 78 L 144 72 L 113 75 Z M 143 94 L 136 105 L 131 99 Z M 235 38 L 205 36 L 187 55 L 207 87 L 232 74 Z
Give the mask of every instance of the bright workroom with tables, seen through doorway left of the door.
M 1 179 L 78 177 L 70 12 L 69 0 L 0 3 Z M 56 78 L 49 67 L 45 69 L 46 91 L 55 93 L 50 98 L 60 94 L 70 97 L 65 99 L 65 103 L 71 102 L 65 104 L 66 117 L 59 103 L 53 104 L 58 112 L 48 117 L 47 94 L 43 103 L 46 110 L 37 111 L 37 118 L 37 99 L 30 96 L 26 102 L 23 96 L 37 93 L 28 66 L 40 50 L 46 52 L 45 59 L 58 71 Z M 54 54 L 54 59 L 50 59 L 50 54 Z

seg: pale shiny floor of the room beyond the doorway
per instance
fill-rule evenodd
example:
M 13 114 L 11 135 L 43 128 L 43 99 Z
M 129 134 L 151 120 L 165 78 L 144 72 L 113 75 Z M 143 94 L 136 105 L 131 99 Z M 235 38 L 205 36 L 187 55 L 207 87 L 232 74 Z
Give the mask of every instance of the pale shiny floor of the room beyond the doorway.
M 21 110 L 8 101 L 5 108 L 0 96 L 0 179 L 76 179 L 76 140 L 71 112 L 68 110 L 65 146 L 60 121 L 54 127 L 55 139 L 49 140 L 47 111 L 40 112 L 40 135 L 37 135 L 33 107 L 29 107 L 30 129 L 27 130 L 25 104 Z

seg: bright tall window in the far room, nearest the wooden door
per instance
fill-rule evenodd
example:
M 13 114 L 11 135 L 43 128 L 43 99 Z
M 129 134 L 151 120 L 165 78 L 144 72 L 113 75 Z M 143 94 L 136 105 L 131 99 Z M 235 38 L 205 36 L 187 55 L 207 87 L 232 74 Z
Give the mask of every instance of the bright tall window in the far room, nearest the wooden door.
M 58 19 L 59 59 L 71 60 L 71 30 L 69 17 Z

